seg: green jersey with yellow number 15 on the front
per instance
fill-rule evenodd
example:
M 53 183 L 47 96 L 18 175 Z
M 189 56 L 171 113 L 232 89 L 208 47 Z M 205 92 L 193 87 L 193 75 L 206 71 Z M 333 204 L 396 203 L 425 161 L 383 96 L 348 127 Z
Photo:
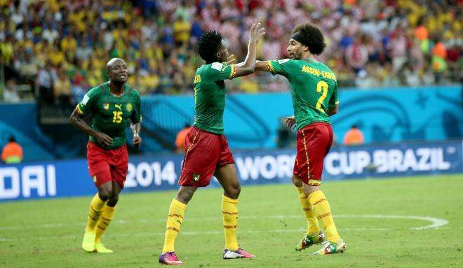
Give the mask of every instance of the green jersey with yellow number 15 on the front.
M 142 121 L 140 106 L 140 94 L 137 90 L 126 84 L 125 92 L 115 97 L 107 82 L 89 90 L 77 104 L 77 111 L 82 115 L 92 115 L 92 128 L 112 138 L 111 146 L 105 149 L 114 149 L 126 144 L 126 128 L 130 122 Z M 90 141 L 101 146 L 93 136 L 90 136 Z

